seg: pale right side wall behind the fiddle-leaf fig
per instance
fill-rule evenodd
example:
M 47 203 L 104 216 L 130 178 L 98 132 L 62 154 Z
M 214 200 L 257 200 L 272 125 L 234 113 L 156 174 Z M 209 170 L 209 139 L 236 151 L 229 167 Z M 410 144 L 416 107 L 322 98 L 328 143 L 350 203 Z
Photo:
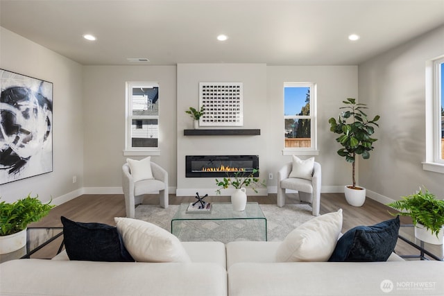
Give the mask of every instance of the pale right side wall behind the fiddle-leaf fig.
M 443 55 L 444 26 L 359 65 L 359 101 L 379 114 L 375 150 L 360 162 L 359 182 L 382 201 L 426 186 L 444 198 L 444 175 L 423 171 L 425 62 Z M 373 191 L 373 192 L 372 192 Z

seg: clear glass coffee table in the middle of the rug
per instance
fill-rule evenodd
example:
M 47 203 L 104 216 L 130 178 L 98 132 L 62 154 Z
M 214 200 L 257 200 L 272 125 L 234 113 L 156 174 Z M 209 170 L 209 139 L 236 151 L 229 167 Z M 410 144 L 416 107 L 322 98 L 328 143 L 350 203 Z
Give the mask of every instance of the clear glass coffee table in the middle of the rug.
M 266 218 L 257 202 L 247 202 L 245 211 L 233 211 L 230 202 L 212 202 L 210 213 L 187 213 L 180 204 L 171 219 L 171 233 L 180 241 L 266 241 Z

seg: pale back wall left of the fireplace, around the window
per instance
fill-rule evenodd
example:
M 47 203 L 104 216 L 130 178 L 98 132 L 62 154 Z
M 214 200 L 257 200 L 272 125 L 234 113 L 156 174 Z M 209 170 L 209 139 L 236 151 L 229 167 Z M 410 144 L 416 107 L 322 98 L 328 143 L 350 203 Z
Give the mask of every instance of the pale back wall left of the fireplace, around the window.
M 153 162 L 176 184 L 176 66 L 83 67 L 85 192 L 121 193 L 125 148 L 126 82 L 159 84 L 160 156 Z

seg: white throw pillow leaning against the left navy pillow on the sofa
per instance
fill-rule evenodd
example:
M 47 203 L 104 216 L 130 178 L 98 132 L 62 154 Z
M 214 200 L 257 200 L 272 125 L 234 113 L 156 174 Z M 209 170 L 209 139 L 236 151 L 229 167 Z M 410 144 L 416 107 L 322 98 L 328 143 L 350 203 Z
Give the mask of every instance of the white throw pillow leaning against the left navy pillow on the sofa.
M 152 223 L 114 218 L 126 250 L 139 262 L 191 262 L 179 239 Z

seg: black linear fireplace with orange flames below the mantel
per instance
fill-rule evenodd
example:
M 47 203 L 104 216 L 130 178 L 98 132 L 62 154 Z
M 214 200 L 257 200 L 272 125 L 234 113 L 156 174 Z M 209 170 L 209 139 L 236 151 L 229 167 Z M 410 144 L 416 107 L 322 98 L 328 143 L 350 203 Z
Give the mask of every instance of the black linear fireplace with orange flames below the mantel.
M 185 177 L 226 177 L 259 169 L 257 155 L 187 155 Z M 259 177 L 259 172 L 254 174 Z

